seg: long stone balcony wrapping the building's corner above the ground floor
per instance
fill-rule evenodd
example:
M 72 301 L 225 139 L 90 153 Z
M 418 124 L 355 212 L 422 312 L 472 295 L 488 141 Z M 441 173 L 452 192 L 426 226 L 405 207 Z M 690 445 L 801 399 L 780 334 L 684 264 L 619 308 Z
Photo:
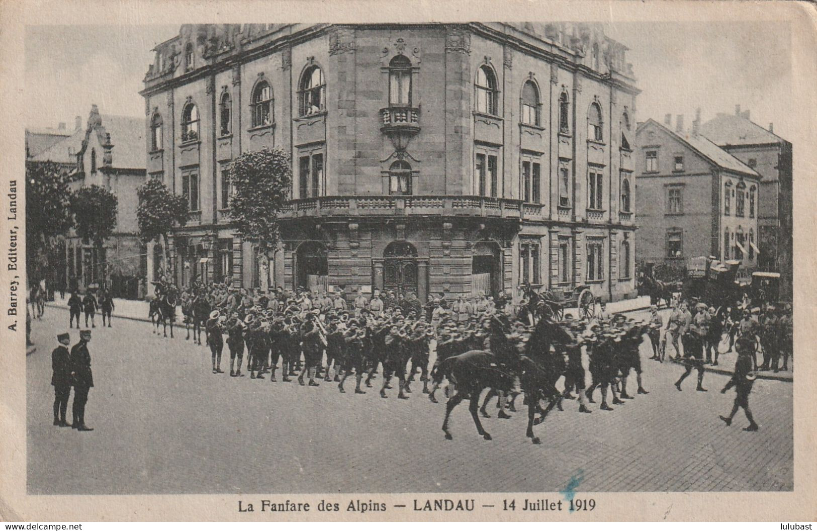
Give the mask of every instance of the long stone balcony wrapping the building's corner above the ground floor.
M 507 220 L 547 218 L 542 205 L 479 195 L 358 195 L 293 199 L 279 218 L 350 216 L 478 216 Z

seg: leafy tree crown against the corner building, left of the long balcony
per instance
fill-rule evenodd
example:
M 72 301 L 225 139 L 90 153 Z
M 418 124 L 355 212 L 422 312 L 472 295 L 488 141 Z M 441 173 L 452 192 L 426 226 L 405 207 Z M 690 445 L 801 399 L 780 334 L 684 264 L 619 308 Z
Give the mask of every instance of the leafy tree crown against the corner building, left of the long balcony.
M 278 213 L 289 199 L 292 166 L 283 149 L 245 153 L 230 165 L 230 219 L 245 239 L 269 257 L 278 243 Z

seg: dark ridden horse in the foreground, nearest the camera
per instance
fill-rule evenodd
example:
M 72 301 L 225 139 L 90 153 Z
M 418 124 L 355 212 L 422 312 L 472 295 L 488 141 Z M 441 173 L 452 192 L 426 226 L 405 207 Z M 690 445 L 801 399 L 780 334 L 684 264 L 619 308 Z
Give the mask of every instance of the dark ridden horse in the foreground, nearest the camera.
M 435 386 L 442 382 L 444 377 L 456 384 L 456 392 L 449 398 L 445 408 L 443 431 L 445 438 L 453 439 L 449 432 L 449 417 L 453 408 L 463 399 L 470 399 L 469 411 L 474 419 L 476 431 L 484 440 L 491 440 L 491 435 L 484 430 L 480 423 L 477 410 L 480 406 L 480 394 L 486 388 L 494 390 L 510 390 L 516 376 L 520 378 L 520 385 L 528 398 L 528 431 L 526 435 L 534 444 L 540 440 L 534 435 L 534 417 L 539 409 L 539 400 L 548 398 L 551 403 L 542 412 L 547 415 L 560 399 L 556 390 L 556 381 L 564 372 L 564 361 L 561 355 L 551 354 L 551 343 L 567 344 L 572 338 L 558 325 L 549 319 L 539 319 L 533 334 L 525 346 L 525 355 L 508 364 L 499 364 L 497 358 L 486 350 L 470 350 L 461 355 L 444 359 L 437 367 L 434 382 Z

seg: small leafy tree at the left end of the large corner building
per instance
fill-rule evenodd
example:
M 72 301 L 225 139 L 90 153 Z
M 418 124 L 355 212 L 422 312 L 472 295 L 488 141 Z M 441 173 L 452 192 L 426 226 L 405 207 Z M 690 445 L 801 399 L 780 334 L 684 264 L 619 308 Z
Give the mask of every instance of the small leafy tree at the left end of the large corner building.
M 165 269 L 170 263 L 170 248 L 167 245 L 167 234 L 174 225 L 185 226 L 190 213 L 187 201 L 181 195 L 173 194 L 162 181 L 150 179 L 136 190 L 139 207 L 136 208 L 136 221 L 139 223 L 139 238 L 142 243 L 158 241 L 164 243 Z

